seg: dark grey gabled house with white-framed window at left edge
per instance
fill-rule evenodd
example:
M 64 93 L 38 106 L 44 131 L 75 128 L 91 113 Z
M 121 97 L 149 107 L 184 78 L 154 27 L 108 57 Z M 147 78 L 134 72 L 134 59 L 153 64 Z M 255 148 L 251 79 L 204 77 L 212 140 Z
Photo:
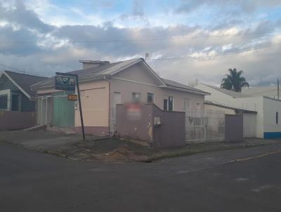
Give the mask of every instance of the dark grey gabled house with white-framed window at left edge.
M 34 126 L 36 93 L 30 86 L 44 79 L 10 71 L 0 74 L 0 130 Z

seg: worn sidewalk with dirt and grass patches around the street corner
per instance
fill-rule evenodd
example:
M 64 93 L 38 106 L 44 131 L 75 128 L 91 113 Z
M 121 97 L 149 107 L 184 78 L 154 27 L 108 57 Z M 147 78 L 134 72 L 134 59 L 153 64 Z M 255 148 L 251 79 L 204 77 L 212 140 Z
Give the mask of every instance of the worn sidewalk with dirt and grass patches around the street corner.
M 207 142 L 169 149 L 154 149 L 127 140 L 114 140 L 112 138 L 98 140 L 98 137 L 91 135 L 87 135 L 86 142 L 83 142 L 81 135 L 65 135 L 50 131 L 1 131 L 0 142 L 20 145 L 27 149 L 55 154 L 73 160 L 150 162 L 200 152 L 273 145 L 281 143 L 281 140 L 251 138 L 237 143 Z

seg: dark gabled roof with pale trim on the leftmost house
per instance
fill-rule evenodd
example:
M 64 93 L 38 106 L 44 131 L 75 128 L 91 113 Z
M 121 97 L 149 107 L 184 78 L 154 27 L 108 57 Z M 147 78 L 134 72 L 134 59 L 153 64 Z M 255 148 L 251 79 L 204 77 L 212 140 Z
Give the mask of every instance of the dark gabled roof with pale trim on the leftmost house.
M 31 86 L 39 81 L 47 79 L 46 77 L 38 77 L 30 74 L 21 74 L 11 71 L 4 71 L 2 74 L 6 76 L 29 99 L 36 96 L 36 93 L 35 91 L 32 91 Z

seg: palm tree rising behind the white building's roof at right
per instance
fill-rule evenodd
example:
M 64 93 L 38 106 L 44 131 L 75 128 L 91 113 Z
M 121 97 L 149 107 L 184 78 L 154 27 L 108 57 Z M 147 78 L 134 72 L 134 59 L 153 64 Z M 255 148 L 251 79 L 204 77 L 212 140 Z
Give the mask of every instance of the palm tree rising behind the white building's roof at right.
M 249 83 L 244 77 L 241 77 L 244 73 L 243 71 L 237 72 L 236 69 L 228 69 L 228 72 L 230 74 L 226 74 L 226 77 L 221 81 L 221 88 L 236 92 L 241 92 L 244 86 L 249 88 Z

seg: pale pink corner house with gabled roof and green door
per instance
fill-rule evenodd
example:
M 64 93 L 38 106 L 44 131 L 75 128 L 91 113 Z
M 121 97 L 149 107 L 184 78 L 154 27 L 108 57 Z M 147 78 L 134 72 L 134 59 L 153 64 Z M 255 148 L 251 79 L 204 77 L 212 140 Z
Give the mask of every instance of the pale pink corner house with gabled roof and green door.
M 84 69 L 70 73 L 79 76 L 86 133 L 107 135 L 115 131 L 117 104 L 155 103 L 167 111 L 204 109 L 204 95 L 208 93 L 160 78 L 142 58 L 114 63 L 80 62 Z M 67 101 L 66 91 L 56 91 L 53 78 L 34 84 L 32 88 L 37 91 L 38 124 L 81 131 L 77 102 Z

